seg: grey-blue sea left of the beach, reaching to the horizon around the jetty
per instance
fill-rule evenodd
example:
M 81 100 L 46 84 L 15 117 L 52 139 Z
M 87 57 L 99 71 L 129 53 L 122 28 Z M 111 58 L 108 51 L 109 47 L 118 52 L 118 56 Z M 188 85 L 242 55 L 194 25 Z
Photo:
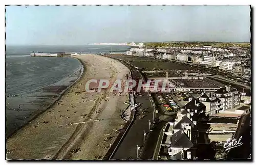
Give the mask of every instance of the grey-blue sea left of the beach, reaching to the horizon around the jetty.
M 84 71 L 77 59 L 30 57 L 31 52 L 124 53 L 130 48 L 111 45 L 7 45 L 6 136 L 49 108 Z

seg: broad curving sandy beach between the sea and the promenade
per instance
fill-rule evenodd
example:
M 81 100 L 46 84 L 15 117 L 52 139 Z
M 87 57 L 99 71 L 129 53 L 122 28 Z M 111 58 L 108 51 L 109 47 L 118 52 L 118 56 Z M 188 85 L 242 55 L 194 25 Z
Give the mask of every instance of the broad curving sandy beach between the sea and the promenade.
M 85 92 L 89 79 L 126 79 L 129 69 L 94 54 L 76 56 L 81 78 L 44 113 L 7 139 L 7 159 L 102 159 L 125 123 L 120 110 L 128 94 Z

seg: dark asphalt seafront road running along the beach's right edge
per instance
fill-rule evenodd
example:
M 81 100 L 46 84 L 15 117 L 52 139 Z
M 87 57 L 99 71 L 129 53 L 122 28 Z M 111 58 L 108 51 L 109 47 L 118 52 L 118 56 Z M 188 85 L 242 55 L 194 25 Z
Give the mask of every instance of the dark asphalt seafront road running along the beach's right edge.
M 125 64 L 125 63 L 124 63 Z M 132 77 L 135 80 L 142 79 L 139 71 L 137 69 L 132 68 L 131 66 L 127 65 L 132 72 Z M 136 87 L 134 88 L 135 90 Z M 146 114 L 142 114 L 141 111 L 138 111 L 136 115 L 136 119 L 131 126 L 130 130 L 125 135 L 122 143 L 116 150 L 115 154 L 113 155 L 112 159 L 137 159 L 137 145 L 141 146 L 138 154 L 138 159 L 152 159 L 153 154 L 157 145 L 159 133 L 163 126 L 170 120 L 174 119 L 174 115 L 167 115 L 163 121 L 159 123 L 151 125 L 152 131 L 149 131 L 148 128 L 148 120 L 153 121 L 153 111 L 154 107 L 152 106 L 152 102 L 150 101 L 150 97 L 147 96 L 147 93 L 142 93 L 142 96 L 135 97 L 136 103 L 141 103 L 141 106 L 137 109 L 146 109 Z M 144 118 L 141 120 L 139 119 L 140 116 L 145 115 Z M 159 115 L 163 115 L 161 113 L 155 114 L 154 118 L 158 119 Z M 145 142 L 143 142 L 143 131 L 146 132 Z

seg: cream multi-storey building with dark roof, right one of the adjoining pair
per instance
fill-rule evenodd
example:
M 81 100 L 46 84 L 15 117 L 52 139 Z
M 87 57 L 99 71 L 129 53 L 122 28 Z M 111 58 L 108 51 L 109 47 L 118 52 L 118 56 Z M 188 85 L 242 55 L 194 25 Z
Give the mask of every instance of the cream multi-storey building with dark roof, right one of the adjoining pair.
M 220 111 L 232 109 L 237 105 L 240 105 L 240 94 L 237 89 L 231 88 L 231 86 L 225 86 L 218 89 L 214 95 L 221 100 Z

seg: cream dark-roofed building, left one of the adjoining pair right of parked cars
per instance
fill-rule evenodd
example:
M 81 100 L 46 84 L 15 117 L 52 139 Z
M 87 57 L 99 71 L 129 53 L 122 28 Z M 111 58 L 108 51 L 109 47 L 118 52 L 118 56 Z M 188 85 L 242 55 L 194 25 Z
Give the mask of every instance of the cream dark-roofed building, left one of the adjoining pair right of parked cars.
M 202 102 L 205 108 L 206 115 L 215 115 L 219 113 L 220 110 L 220 102 L 221 100 L 214 96 L 214 93 L 202 93 L 202 95 L 198 98 L 200 102 Z

